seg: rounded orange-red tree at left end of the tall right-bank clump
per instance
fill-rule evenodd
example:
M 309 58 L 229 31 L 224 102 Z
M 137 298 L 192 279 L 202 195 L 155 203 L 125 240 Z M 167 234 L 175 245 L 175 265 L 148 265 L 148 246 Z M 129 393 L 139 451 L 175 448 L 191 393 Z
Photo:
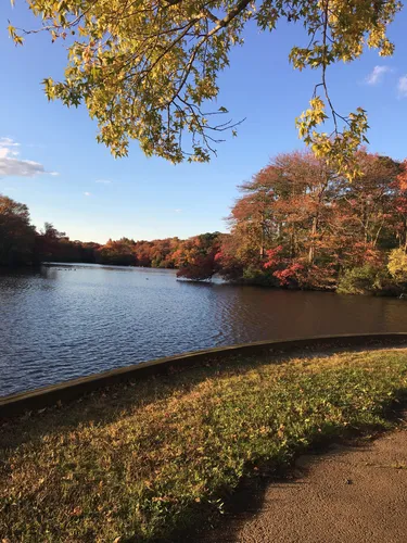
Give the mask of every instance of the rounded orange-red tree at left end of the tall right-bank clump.
M 262 267 L 270 249 L 281 244 L 288 258 L 315 263 L 327 236 L 327 206 L 336 175 L 309 152 L 279 154 L 241 186 L 230 224 L 239 239 L 236 254 Z M 222 251 L 225 252 L 225 251 Z

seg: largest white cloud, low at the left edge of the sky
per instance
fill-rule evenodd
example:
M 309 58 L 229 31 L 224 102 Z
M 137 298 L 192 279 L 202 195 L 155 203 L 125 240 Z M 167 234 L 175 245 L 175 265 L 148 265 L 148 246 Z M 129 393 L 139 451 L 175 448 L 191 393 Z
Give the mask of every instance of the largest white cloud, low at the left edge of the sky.
M 35 177 L 40 174 L 59 175 L 47 172 L 42 164 L 35 161 L 20 160 L 16 148 L 20 143 L 11 138 L 0 138 L 0 177 Z

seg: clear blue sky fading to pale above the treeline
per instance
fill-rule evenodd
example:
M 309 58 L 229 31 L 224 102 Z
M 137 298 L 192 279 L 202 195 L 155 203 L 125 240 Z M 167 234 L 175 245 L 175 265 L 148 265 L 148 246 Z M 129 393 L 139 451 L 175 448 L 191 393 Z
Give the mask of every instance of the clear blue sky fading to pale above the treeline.
M 225 218 L 247 181 L 280 152 L 301 149 L 294 119 L 319 81 L 319 73 L 297 72 L 288 61 L 292 46 L 307 42 L 301 27 L 280 25 L 260 33 L 251 25 L 245 45 L 236 48 L 221 73 L 216 109 L 245 118 L 238 138 L 227 137 L 209 164 L 174 166 L 143 155 L 132 142 L 129 156 L 114 159 L 97 143 L 97 125 L 85 108 L 48 102 L 41 80 L 62 78 L 63 43 L 47 35 L 29 36 L 16 48 L 8 20 L 16 27 L 38 26 L 25 0 L 0 7 L 0 193 L 28 205 L 33 224 L 44 222 L 71 239 L 106 242 L 122 237 L 188 238 L 226 231 Z M 391 26 L 393 58 L 367 51 L 351 64 L 328 72 L 336 111 L 368 111 L 369 150 L 407 156 L 407 10 Z

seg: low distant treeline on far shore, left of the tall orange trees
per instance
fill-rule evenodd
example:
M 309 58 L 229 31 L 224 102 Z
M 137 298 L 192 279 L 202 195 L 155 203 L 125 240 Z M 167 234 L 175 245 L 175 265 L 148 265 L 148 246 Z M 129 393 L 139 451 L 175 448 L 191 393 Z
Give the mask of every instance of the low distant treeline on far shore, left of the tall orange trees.
M 107 243 L 72 241 L 46 223 L 37 230 L 26 205 L 0 194 L 0 266 L 38 265 L 41 262 L 82 262 L 116 266 L 177 268 L 194 279 L 214 274 L 220 250 L 220 232 L 203 233 L 187 240 L 167 238 L 135 241 L 128 238 Z M 188 269 L 187 269 L 188 268 Z

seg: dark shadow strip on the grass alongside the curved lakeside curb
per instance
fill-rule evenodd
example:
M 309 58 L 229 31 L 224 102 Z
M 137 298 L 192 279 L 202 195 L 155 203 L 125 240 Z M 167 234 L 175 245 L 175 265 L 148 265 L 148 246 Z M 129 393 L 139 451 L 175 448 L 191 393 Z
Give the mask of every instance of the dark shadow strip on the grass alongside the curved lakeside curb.
M 231 355 L 222 362 L 208 359 L 196 366 L 169 368 L 167 375 L 105 387 L 66 404 L 0 419 L 0 449 L 13 449 L 28 441 L 38 442 L 46 434 L 69 432 L 89 422 L 103 427 L 130 416 L 138 407 L 165 401 L 174 394 L 188 393 L 206 379 L 244 374 L 263 364 L 279 364 L 289 359 L 288 356 Z

